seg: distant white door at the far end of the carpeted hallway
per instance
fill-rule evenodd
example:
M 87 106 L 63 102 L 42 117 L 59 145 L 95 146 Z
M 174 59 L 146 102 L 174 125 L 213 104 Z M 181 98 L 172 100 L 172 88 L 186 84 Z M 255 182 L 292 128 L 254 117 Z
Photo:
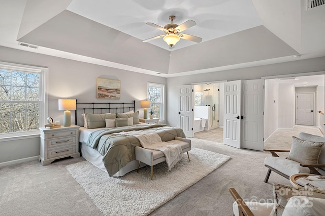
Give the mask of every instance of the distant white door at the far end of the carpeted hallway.
M 314 125 L 315 93 L 297 93 L 296 124 Z

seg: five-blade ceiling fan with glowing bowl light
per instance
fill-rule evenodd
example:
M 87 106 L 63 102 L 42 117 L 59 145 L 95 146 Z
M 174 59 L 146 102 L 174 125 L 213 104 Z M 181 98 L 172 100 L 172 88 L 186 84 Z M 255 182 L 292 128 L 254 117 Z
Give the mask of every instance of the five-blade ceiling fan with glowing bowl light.
M 155 36 L 155 37 L 151 37 L 149 39 L 143 40 L 143 42 L 148 42 L 150 40 L 154 40 L 154 39 L 157 39 L 157 38 L 160 38 L 160 37 L 164 37 L 164 41 L 167 42 L 167 44 L 168 44 L 168 46 L 170 46 L 170 48 L 172 48 L 180 40 L 180 38 L 185 39 L 185 40 L 191 40 L 191 41 L 194 41 L 194 42 L 201 42 L 202 41 L 201 37 L 180 33 L 182 31 L 196 25 L 197 24 L 196 22 L 194 22 L 193 20 L 187 20 L 183 24 L 177 25 L 177 24 L 173 23 L 175 18 L 176 18 L 175 16 L 170 16 L 169 20 L 171 21 L 171 23 L 165 25 L 164 28 L 159 26 L 159 25 L 156 25 L 154 23 L 148 22 L 147 25 L 150 25 L 150 26 L 152 26 L 154 28 L 162 30 L 162 31 L 165 32 L 165 34 L 158 35 L 158 36 Z

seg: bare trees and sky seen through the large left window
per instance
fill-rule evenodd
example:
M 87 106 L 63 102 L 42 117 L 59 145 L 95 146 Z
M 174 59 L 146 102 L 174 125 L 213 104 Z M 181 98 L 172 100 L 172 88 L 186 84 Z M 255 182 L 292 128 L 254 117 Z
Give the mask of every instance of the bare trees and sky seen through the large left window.
M 0 69 L 0 134 L 39 128 L 40 74 Z

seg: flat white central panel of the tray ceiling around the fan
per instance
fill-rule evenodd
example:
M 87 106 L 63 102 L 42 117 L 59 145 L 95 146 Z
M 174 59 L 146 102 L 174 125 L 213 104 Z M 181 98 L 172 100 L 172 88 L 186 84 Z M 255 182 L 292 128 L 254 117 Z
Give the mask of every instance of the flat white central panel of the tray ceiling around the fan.
M 141 40 L 164 34 L 146 23 L 164 27 L 170 23 L 171 15 L 176 16 L 174 23 L 178 25 L 189 19 L 195 21 L 197 25 L 183 33 L 202 37 L 203 42 L 262 25 L 251 0 L 97 0 L 96 4 L 88 0 L 73 0 L 67 10 Z M 169 50 L 163 38 L 150 43 Z M 181 40 L 175 50 L 193 44 L 195 42 Z

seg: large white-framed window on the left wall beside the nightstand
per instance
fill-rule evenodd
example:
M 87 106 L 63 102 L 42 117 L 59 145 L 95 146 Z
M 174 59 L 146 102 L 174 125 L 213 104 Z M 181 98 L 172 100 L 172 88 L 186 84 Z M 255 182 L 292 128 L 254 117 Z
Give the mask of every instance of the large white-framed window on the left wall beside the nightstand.
M 39 133 L 45 122 L 46 71 L 0 62 L 0 137 Z

